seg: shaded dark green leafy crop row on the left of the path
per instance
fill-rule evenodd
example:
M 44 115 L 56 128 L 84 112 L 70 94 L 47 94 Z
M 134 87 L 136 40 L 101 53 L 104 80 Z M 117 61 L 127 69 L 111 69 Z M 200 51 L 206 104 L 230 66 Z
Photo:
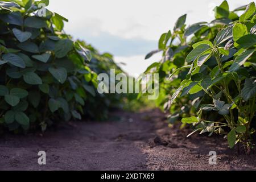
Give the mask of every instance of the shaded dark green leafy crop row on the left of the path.
M 122 96 L 98 94 L 97 74 L 121 69 L 108 53 L 64 34 L 63 16 L 46 9 L 40 17 L 40 3 L 49 2 L 0 1 L 0 127 L 105 119 Z

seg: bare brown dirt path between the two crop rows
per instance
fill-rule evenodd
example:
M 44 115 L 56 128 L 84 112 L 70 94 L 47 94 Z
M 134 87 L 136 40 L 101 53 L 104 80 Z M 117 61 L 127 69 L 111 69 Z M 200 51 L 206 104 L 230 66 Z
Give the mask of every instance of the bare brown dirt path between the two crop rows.
M 1 170 L 256 170 L 256 155 L 237 155 L 222 137 L 168 128 L 159 110 L 118 111 L 108 122 L 72 122 L 57 131 L 0 137 Z M 46 151 L 46 165 L 38 164 Z M 209 151 L 217 164 L 209 164 Z

